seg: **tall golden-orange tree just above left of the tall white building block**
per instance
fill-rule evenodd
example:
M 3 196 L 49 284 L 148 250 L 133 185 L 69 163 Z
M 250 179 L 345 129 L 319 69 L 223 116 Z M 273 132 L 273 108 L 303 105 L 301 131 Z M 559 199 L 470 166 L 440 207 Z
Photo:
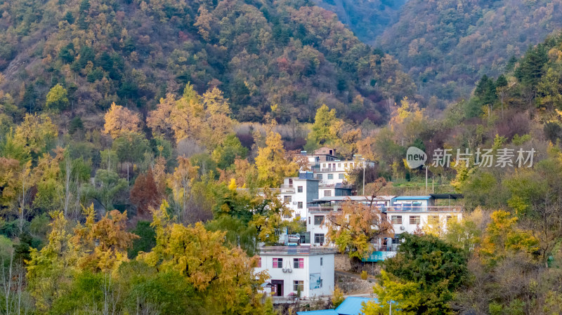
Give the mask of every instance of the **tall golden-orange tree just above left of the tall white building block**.
M 285 177 L 294 175 L 298 170 L 296 163 L 287 161 L 281 135 L 273 130 L 267 135 L 266 147 L 258 150 L 256 167 L 262 187 L 278 187 Z

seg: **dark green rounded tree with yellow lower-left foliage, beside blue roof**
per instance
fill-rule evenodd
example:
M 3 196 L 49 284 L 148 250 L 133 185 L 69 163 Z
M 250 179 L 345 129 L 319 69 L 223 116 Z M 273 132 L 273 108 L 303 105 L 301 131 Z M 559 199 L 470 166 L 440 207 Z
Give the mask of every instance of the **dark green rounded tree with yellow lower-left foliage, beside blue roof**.
M 365 314 L 379 314 L 391 300 L 397 314 L 454 314 L 449 302 L 469 276 L 466 251 L 436 236 L 403 235 L 374 287 L 379 299 L 367 303 Z

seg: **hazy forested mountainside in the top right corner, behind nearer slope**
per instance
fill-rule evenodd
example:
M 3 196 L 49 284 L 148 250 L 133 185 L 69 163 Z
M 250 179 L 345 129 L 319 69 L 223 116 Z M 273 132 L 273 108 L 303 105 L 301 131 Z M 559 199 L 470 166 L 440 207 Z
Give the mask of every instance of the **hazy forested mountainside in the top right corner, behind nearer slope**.
M 478 78 L 514 66 L 529 45 L 562 27 L 561 1 L 408 1 L 376 41 L 396 55 L 421 94 L 455 100 Z

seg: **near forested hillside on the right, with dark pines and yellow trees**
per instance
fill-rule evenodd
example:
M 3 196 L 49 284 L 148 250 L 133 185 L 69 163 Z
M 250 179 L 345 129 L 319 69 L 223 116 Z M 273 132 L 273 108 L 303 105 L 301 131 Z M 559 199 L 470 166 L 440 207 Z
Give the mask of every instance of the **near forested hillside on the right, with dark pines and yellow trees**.
M 430 156 L 452 149 L 450 168 L 429 170 L 464 194 L 466 211 L 446 231 L 405 236 L 365 314 L 388 303 L 408 314 L 561 313 L 562 36 L 529 48 L 514 66 L 483 76 L 469 100 L 429 128 L 412 120 L 395 129 L 419 130 L 414 145 Z M 468 165 L 457 156 L 465 148 Z M 514 162 L 475 165 L 478 149 L 514 152 Z M 520 149 L 535 152 L 532 167 L 516 163 Z

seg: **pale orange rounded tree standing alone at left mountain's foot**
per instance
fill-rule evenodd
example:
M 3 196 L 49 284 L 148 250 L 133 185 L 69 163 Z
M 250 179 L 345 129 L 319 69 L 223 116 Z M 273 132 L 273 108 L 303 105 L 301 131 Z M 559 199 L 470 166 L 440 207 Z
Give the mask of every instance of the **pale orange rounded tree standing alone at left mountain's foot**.
M 141 119 L 138 114 L 121 105 L 115 105 L 115 102 L 105 113 L 104 118 L 103 133 L 111 135 L 113 139 L 119 137 L 122 133 L 139 133 L 141 131 Z

